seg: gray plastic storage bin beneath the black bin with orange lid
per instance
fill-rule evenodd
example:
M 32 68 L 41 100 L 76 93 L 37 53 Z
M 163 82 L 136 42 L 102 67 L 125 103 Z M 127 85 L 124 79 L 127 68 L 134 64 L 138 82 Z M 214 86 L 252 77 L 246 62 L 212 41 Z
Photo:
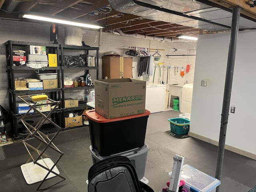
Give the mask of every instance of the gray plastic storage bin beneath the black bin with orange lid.
M 101 160 L 104 160 L 104 159 L 107 159 L 110 157 L 114 157 L 114 156 L 126 156 L 132 162 L 132 165 L 134 166 L 134 168 L 136 170 L 139 180 L 141 180 L 144 177 L 148 151 L 149 151 L 149 146 L 144 144 L 144 146 L 141 148 L 136 148 L 133 150 L 125 151 L 122 153 L 117 153 L 117 154 L 110 155 L 110 156 L 100 156 L 98 154 L 98 152 L 96 150 L 94 150 L 92 148 L 92 146 L 90 146 L 90 152 L 92 154 L 93 164 L 95 164 Z

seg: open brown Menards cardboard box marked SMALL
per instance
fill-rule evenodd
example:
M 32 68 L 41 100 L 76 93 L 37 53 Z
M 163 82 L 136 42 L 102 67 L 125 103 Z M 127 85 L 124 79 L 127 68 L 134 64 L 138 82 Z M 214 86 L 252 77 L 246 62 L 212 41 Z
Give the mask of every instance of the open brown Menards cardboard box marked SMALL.
M 145 112 L 146 81 L 123 78 L 95 80 L 95 111 L 108 118 Z

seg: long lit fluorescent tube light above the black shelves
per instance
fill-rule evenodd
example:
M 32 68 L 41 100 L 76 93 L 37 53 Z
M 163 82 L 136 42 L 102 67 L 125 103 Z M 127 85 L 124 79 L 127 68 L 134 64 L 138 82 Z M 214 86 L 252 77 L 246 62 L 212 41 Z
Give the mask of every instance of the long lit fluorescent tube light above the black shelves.
M 61 18 L 58 16 L 48 16 L 48 15 L 30 13 L 30 12 L 22 14 L 22 18 L 53 22 L 53 23 L 59 23 L 64 25 L 72 25 L 72 26 L 78 26 L 78 27 L 93 28 L 93 29 L 100 29 L 104 27 L 100 24 L 85 23 L 79 20 L 74 20 L 74 19 L 72 20 L 68 18 Z

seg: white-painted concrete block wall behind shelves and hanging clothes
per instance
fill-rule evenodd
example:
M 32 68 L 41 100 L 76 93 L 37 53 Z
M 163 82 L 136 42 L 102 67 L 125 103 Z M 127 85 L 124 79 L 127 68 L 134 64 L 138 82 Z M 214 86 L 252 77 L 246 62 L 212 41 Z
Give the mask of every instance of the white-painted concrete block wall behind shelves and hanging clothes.
M 28 22 L 18 22 L 10 20 L 0 20 L 0 104 L 6 109 L 9 108 L 8 102 L 8 80 L 6 73 L 6 51 L 4 43 L 8 40 L 17 41 L 28 41 L 28 42 L 50 42 L 50 26 L 41 25 L 36 23 Z M 175 56 L 166 57 L 167 54 L 195 54 L 196 42 L 160 42 L 154 40 L 147 40 L 134 37 L 124 37 L 116 34 L 109 34 L 104 32 L 97 32 L 91 30 L 85 30 L 83 35 L 83 41 L 85 44 L 93 47 L 99 47 L 99 77 L 102 78 L 102 60 L 101 57 L 104 56 L 105 52 L 108 51 L 118 51 L 122 53 L 122 56 L 128 56 L 125 54 L 128 51 L 129 46 L 153 48 L 153 49 L 163 49 L 164 51 L 158 51 L 162 57 L 159 62 L 164 62 L 164 68 L 161 68 L 162 80 L 166 83 L 167 78 L 167 67 L 170 65 L 170 79 L 168 79 L 168 84 L 180 83 L 184 84 L 186 81 L 192 83 L 194 80 L 194 64 L 195 56 Z M 59 28 L 59 44 L 64 44 L 64 28 Z M 174 48 L 180 49 L 180 51 L 173 52 Z M 150 50 L 150 54 L 154 54 L 156 50 Z M 92 52 L 92 55 L 96 56 L 96 52 Z M 133 78 L 138 78 L 142 80 L 142 77 L 138 77 L 138 62 L 139 57 L 133 57 Z M 192 68 L 188 74 L 184 77 L 180 76 L 180 68 L 186 68 L 186 65 L 190 64 Z M 179 72 L 174 75 L 174 67 L 179 67 Z M 76 78 L 83 75 L 84 72 L 80 70 L 69 70 L 65 71 L 64 76 L 70 76 L 71 78 Z M 159 82 L 159 68 L 156 68 L 155 80 L 154 82 Z M 21 74 L 22 75 L 22 74 Z M 92 78 L 96 78 L 96 74 L 92 72 Z M 150 77 L 150 82 L 153 82 L 153 77 Z M 65 97 L 72 97 L 78 100 L 84 99 L 84 92 L 66 92 Z

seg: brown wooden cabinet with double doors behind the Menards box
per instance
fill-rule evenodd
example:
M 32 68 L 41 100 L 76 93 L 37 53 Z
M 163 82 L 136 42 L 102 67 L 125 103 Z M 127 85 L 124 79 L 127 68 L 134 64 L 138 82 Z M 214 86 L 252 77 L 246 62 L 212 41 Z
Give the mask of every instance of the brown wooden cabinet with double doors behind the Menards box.
M 132 57 L 102 57 L 102 78 L 132 78 Z

